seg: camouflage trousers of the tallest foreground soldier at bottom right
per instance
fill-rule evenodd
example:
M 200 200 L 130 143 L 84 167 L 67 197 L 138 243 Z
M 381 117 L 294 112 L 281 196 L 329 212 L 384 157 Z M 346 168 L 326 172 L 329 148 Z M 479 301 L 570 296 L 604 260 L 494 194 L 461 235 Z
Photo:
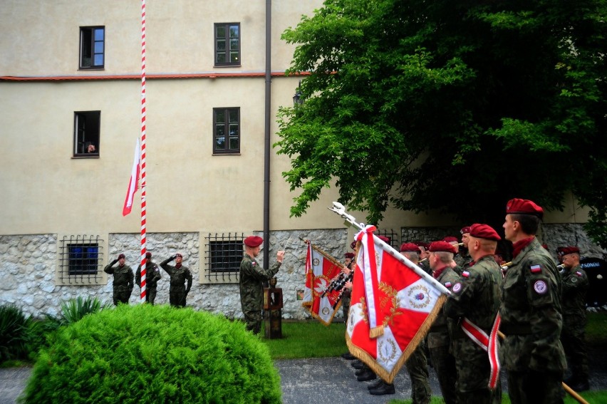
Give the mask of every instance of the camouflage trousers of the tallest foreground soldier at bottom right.
M 508 372 L 508 395 L 512 404 L 562 404 L 562 373 Z

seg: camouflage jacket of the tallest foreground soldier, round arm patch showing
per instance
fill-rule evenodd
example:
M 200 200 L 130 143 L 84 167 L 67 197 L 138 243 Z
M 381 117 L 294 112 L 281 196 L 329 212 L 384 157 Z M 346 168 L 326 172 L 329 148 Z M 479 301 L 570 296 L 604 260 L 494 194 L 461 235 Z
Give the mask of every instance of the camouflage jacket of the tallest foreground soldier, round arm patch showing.
M 559 271 L 535 237 L 512 259 L 502 281 L 499 314 L 508 371 L 564 371 Z

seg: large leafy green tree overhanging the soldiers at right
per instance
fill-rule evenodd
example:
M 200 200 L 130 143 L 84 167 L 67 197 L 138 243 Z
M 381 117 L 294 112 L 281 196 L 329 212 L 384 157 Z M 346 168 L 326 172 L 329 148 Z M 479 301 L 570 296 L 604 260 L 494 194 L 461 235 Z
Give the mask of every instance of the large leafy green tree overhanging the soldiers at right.
M 591 209 L 607 247 L 607 2 L 326 0 L 282 34 L 305 100 L 274 147 L 300 216 L 336 183 L 388 207 L 501 225 L 512 197 Z

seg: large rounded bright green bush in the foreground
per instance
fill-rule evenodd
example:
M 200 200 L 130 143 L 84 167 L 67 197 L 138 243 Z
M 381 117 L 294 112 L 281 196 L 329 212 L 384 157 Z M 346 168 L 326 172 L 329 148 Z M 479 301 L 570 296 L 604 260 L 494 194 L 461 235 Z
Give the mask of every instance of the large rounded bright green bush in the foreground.
M 120 305 L 58 329 L 23 403 L 280 403 L 268 348 L 242 323 Z

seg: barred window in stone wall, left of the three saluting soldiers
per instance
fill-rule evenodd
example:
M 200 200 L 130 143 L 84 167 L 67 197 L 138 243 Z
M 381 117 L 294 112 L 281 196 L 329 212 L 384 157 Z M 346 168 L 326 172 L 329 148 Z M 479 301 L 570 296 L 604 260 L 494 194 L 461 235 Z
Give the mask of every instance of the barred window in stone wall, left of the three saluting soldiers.
M 61 284 L 98 284 L 102 281 L 103 242 L 93 235 L 63 236 L 58 246 Z

